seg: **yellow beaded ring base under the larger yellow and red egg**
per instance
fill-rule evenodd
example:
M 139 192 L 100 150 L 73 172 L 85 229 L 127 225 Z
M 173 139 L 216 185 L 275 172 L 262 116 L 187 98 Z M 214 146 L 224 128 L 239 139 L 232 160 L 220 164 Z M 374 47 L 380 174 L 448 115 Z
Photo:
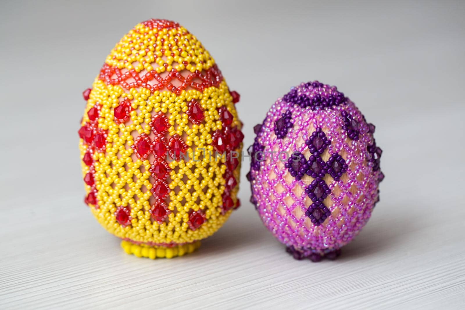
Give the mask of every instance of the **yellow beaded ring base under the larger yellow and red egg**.
M 121 241 L 121 247 L 127 254 L 134 254 L 136 257 L 155 258 L 173 258 L 192 253 L 200 246 L 200 241 L 189 244 L 181 244 L 172 248 L 164 246 L 148 246 L 143 244 L 133 244 L 129 241 Z

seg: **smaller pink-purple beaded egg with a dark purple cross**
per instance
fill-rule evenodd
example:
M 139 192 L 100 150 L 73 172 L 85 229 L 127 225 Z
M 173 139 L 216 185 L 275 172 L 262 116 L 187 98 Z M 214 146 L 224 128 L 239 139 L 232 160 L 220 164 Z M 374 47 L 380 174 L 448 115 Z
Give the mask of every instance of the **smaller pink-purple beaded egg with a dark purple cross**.
M 379 201 L 375 126 L 335 86 L 302 83 L 254 127 L 251 202 L 296 259 L 335 259 Z

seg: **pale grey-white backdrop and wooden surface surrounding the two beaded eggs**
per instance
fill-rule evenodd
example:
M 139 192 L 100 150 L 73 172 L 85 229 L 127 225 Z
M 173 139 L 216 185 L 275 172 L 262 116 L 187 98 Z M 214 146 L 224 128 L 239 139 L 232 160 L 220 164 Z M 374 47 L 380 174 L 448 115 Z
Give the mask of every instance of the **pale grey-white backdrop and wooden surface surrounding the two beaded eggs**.
M 0 308 L 458 308 L 463 304 L 463 1 L 0 4 Z M 291 86 L 338 86 L 377 126 L 386 178 L 335 262 L 294 261 L 248 203 L 195 254 L 127 256 L 82 203 L 81 92 L 121 36 L 179 21 L 252 127 Z

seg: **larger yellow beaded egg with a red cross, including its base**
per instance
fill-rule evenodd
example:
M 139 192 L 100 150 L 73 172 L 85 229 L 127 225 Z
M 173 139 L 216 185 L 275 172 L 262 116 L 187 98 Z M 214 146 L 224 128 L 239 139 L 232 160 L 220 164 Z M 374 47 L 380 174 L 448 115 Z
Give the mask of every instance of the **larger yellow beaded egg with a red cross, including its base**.
M 190 253 L 239 207 L 239 94 L 186 28 L 136 25 L 83 96 L 85 203 L 128 254 Z

